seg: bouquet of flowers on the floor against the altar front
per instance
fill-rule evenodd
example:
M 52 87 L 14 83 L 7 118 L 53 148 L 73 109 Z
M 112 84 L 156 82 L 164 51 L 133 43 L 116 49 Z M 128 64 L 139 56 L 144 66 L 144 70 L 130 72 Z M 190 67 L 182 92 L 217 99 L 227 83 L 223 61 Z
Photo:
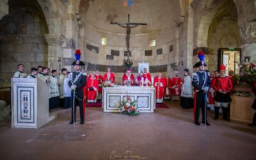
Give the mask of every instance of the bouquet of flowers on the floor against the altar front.
M 127 98 L 124 99 L 121 103 L 120 111 L 124 115 L 136 116 L 140 114 L 139 109 L 136 107 L 136 100 L 132 101 L 127 95 Z

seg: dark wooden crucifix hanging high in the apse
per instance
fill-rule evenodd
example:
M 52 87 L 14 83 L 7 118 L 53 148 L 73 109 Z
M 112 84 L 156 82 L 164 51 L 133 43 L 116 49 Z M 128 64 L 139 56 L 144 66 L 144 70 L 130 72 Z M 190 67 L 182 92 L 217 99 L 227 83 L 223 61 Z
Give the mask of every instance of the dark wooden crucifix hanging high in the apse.
M 130 51 L 130 33 L 131 33 L 131 28 L 135 28 L 136 26 L 139 25 L 147 25 L 147 23 L 131 23 L 130 22 L 130 14 L 128 14 L 128 22 L 127 23 L 118 23 L 118 22 L 110 22 L 110 24 L 116 24 L 122 28 L 126 28 L 126 48 L 128 51 L 128 56 L 131 53 Z

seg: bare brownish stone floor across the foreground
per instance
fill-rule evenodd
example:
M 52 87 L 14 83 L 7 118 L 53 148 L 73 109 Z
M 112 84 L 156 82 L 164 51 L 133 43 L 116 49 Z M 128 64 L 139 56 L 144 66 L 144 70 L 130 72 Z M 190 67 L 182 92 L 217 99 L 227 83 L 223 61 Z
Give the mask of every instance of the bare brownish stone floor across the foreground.
M 70 125 L 70 109 L 41 129 L 0 125 L 0 159 L 255 159 L 256 129 L 212 120 L 193 124 L 192 109 L 127 116 L 86 108 L 86 124 Z M 78 115 L 78 114 L 77 114 Z

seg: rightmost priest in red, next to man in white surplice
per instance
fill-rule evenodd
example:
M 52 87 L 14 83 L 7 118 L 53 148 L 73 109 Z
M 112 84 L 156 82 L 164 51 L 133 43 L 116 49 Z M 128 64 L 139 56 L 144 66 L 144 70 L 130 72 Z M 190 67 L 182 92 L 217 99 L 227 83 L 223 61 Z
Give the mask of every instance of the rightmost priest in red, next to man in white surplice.
M 180 92 L 181 92 L 181 78 L 179 77 L 179 73 L 175 71 L 174 77 L 172 78 L 172 100 L 179 100 Z

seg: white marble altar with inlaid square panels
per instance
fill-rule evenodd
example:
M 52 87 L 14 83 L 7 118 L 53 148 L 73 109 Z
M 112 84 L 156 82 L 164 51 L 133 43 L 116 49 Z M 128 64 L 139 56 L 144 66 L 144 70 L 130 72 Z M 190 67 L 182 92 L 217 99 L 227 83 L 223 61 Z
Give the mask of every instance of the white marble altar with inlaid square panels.
M 140 113 L 154 113 L 156 109 L 156 90 L 154 87 L 113 86 L 102 88 L 102 108 L 104 112 L 120 112 L 122 100 L 137 101 Z

